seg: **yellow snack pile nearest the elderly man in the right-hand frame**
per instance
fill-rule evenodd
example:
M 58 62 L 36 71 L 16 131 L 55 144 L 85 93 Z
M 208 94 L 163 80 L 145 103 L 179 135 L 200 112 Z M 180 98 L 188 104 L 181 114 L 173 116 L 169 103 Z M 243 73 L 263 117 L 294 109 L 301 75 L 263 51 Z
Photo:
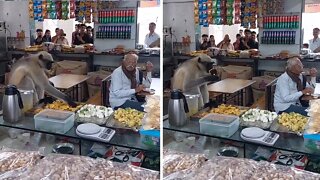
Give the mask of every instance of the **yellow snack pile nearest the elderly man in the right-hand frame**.
M 309 118 L 298 113 L 282 113 L 270 127 L 271 131 L 302 134 Z

